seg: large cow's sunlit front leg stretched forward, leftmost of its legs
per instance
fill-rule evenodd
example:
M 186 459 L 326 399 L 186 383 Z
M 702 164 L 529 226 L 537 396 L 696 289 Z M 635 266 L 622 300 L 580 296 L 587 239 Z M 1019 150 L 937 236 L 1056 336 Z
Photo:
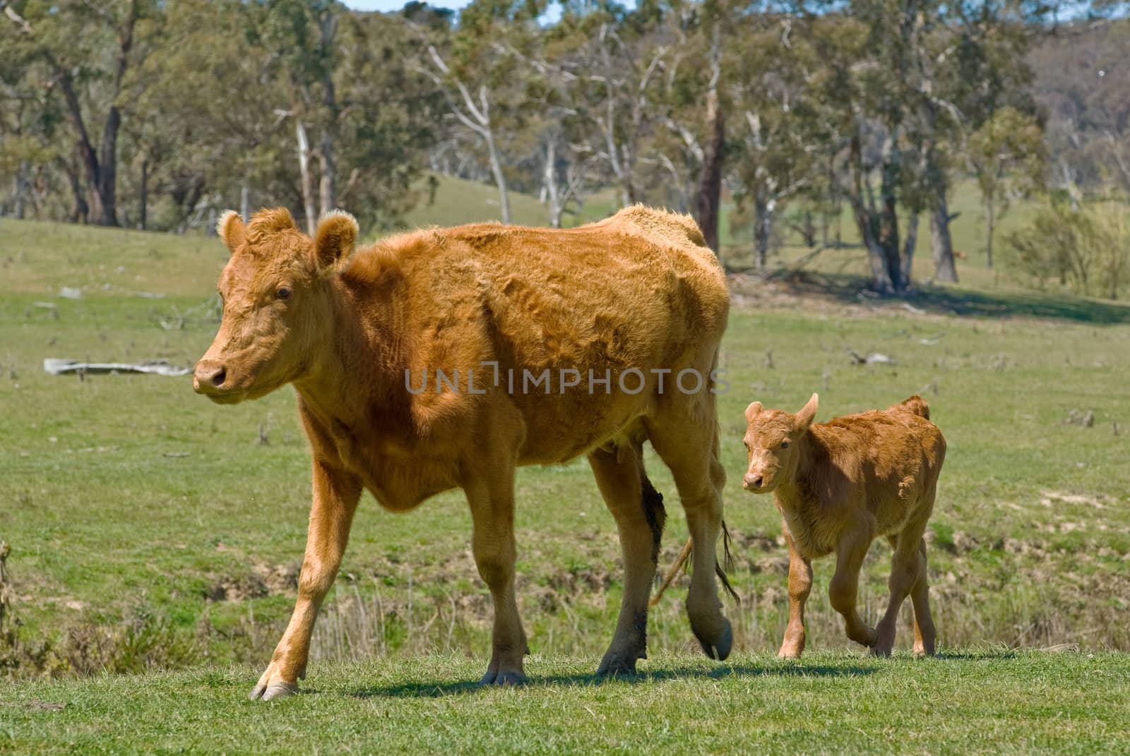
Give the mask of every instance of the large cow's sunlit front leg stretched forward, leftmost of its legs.
M 314 462 L 314 502 L 298 576 L 298 600 L 271 663 L 251 690 L 252 699 L 270 701 L 297 693 L 298 678 L 306 675 L 318 609 L 338 574 L 359 498 L 360 481 L 355 476 Z

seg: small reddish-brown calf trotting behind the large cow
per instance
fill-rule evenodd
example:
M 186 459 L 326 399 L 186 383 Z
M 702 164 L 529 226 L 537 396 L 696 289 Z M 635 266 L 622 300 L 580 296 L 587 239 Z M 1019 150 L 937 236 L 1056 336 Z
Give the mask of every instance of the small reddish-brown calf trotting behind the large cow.
M 832 607 L 844 617 L 847 637 L 889 655 L 895 622 L 907 594 L 914 605 L 914 653 L 933 654 L 925 541 L 946 440 L 930 422 L 920 397 L 889 409 L 812 424 L 814 393 L 796 415 L 746 409 L 749 468 L 742 486 L 772 492 L 789 546 L 789 625 L 777 655 L 794 659 L 805 650 L 805 601 L 812 586 L 811 559 L 835 551 L 828 586 Z M 890 602 L 872 629 L 855 610 L 859 570 L 878 536 L 895 549 Z

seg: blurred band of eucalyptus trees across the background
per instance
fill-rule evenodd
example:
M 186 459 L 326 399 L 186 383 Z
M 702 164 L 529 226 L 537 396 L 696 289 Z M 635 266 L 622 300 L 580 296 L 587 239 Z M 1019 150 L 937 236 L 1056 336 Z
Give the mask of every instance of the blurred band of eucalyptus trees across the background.
M 725 236 L 759 269 L 785 234 L 842 245 L 846 223 L 871 287 L 898 294 L 916 279 L 956 280 L 950 208 L 962 188 L 979 193 L 989 266 L 1001 217 L 1043 197 L 1040 223 L 1059 231 L 1009 234 L 1010 266 L 1101 295 L 1124 276 L 1112 254 L 1084 250 L 1124 236 L 1120 3 L 476 0 L 380 14 L 337 0 L 0 0 L 0 10 L 7 216 L 185 233 L 227 207 L 281 203 L 307 227 L 344 207 L 381 231 L 446 175 L 492 185 L 504 223 L 513 192 L 538 197 L 554 226 L 576 223 L 597 192 L 690 212 L 713 249 Z M 1037 254 L 1050 246 L 1041 238 L 1078 243 Z M 1079 272 L 1096 266 L 1102 286 Z

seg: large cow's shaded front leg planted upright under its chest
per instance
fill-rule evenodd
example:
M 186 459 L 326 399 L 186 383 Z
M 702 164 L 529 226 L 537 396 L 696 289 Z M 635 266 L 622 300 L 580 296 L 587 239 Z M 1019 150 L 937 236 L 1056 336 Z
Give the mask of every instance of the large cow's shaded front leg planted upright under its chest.
M 514 466 L 471 477 L 464 486 L 471 506 L 475 535 L 471 548 L 479 575 L 490 589 L 494 602 L 494 634 L 490 663 L 483 685 L 516 685 L 525 681 L 522 657 L 527 653 L 525 631 L 514 596 Z

